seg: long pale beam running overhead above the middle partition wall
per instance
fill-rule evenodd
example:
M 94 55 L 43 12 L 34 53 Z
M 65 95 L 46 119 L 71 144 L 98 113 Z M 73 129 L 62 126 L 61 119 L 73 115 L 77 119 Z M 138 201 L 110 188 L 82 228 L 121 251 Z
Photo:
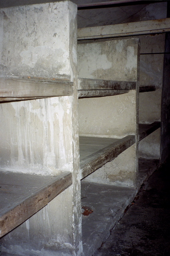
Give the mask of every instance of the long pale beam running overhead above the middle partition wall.
M 78 40 L 111 38 L 119 36 L 133 36 L 142 34 L 155 34 L 170 31 L 170 18 L 159 20 L 146 20 L 108 26 L 79 28 Z

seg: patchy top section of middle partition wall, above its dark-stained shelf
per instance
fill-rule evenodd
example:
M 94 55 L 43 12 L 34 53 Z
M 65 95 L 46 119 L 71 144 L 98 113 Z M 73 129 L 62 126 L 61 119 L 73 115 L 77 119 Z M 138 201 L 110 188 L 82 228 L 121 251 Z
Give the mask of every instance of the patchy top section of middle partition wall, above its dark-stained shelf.
M 78 77 L 136 81 L 138 39 L 77 45 Z

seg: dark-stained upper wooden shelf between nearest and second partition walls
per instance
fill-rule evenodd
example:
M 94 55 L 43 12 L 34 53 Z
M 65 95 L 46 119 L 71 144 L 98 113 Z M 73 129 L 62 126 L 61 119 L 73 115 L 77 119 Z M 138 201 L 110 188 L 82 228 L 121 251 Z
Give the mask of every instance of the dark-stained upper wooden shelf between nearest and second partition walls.
M 119 95 L 131 89 L 136 89 L 136 82 L 78 78 L 79 98 Z

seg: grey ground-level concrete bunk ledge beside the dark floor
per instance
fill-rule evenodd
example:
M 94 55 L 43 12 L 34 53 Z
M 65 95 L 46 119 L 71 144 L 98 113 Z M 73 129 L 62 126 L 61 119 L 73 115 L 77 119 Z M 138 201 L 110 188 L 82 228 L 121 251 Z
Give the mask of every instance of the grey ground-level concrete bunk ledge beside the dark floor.
M 94 255 L 110 236 L 110 230 L 117 225 L 140 186 L 159 164 L 158 159 L 139 159 L 138 179 L 133 188 L 81 181 L 84 256 Z M 85 208 L 89 215 L 83 214 Z

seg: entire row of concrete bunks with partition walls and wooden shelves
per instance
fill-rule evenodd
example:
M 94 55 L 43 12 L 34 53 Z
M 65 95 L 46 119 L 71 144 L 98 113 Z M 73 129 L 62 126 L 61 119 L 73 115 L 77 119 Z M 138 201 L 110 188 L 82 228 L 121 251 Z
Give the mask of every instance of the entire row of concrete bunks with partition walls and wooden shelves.
M 77 45 L 69 1 L 0 20 L 1 254 L 92 256 L 166 159 L 164 56 L 141 55 L 165 34 Z

